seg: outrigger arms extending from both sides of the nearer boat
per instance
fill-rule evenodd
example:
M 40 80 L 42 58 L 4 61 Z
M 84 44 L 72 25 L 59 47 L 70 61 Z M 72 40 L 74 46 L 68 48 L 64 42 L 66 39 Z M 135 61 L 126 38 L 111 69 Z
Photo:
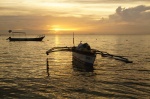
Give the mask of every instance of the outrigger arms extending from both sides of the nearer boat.
M 49 53 L 58 52 L 58 51 L 76 52 L 76 47 L 75 46 L 74 47 L 53 47 L 49 49 L 48 51 L 46 51 L 46 54 L 49 55 Z M 133 63 L 133 61 L 130 61 L 123 56 L 109 54 L 107 52 L 99 51 L 96 49 L 91 49 L 91 52 L 93 52 L 94 54 L 100 54 L 102 57 L 112 58 L 112 59 L 119 60 L 125 63 Z M 86 53 L 89 53 L 89 52 L 86 52 Z

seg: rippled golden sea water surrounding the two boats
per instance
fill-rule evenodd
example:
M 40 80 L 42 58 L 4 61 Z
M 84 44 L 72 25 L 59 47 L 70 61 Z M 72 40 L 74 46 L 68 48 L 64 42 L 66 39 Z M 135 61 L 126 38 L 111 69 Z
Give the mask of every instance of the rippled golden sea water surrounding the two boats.
M 132 60 L 97 55 L 93 72 L 72 66 L 72 53 L 45 52 L 72 46 L 72 35 L 46 35 L 42 42 L 9 42 L 0 36 L 0 98 L 149 99 L 150 35 L 75 35 L 92 48 Z M 49 74 L 46 59 L 49 60 Z

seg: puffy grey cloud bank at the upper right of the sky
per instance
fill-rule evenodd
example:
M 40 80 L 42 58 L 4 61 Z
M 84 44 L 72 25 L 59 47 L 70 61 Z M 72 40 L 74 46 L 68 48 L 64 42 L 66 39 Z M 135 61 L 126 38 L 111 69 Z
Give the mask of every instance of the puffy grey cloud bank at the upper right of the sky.
M 150 6 L 136 6 L 132 8 L 122 8 L 121 6 L 116 9 L 116 13 L 109 16 L 112 21 L 125 21 L 125 22 L 141 22 L 150 21 Z

